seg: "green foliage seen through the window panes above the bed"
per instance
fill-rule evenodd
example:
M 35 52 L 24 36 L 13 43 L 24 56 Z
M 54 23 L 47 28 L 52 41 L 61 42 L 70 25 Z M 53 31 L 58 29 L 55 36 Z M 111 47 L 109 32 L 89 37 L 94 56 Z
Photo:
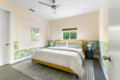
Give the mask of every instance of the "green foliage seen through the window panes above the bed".
M 76 32 L 76 30 L 64 31 L 63 32 L 63 39 L 64 40 L 77 39 L 77 32 Z

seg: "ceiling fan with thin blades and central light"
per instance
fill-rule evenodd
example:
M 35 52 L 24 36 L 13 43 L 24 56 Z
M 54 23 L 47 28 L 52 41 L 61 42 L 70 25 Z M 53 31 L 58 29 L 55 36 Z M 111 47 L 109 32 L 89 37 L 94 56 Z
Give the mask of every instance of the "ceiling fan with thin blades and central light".
M 47 3 L 41 2 L 41 1 L 39 1 L 39 3 L 40 3 L 40 4 L 43 4 L 43 5 L 46 5 L 46 6 L 48 6 L 48 7 L 51 7 L 51 8 L 54 10 L 54 14 L 56 14 L 56 8 L 68 4 L 68 2 L 63 2 L 63 3 L 57 5 L 57 4 L 56 4 L 56 0 L 52 0 L 53 5 L 50 5 L 50 4 L 47 4 Z

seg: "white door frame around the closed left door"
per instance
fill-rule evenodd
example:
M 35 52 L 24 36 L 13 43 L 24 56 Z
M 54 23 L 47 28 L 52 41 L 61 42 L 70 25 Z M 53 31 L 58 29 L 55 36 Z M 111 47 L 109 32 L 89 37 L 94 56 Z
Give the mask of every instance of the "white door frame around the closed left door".
M 9 18 L 10 25 L 9 25 L 9 29 L 8 29 L 8 31 L 9 31 L 9 34 L 8 34 L 9 42 L 8 43 L 10 44 L 9 50 L 8 50 L 8 52 L 9 52 L 8 64 L 12 64 L 12 63 L 14 63 L 14 12 L 13 12 L 13 10 L 2 7 L 2 6 L 0 6 L 0 9 L 5 10 L 5 11 L 9 12 L 9 14 L 10 14 L 10 18 Z

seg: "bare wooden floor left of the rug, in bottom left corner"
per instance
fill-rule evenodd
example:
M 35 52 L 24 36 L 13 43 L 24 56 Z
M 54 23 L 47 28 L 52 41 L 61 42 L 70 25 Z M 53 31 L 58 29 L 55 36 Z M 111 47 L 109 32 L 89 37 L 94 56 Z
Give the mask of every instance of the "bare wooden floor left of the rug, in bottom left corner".
M 10 65 L 0 67 L 0 80 L 33 80 Z

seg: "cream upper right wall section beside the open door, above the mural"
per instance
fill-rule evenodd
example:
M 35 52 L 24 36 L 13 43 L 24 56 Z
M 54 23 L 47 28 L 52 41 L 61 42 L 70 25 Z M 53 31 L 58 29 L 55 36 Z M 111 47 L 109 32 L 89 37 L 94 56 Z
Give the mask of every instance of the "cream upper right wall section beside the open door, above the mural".
M 99 12 L 99 40 L 108 42 L 108 0 L 101 0 Z

